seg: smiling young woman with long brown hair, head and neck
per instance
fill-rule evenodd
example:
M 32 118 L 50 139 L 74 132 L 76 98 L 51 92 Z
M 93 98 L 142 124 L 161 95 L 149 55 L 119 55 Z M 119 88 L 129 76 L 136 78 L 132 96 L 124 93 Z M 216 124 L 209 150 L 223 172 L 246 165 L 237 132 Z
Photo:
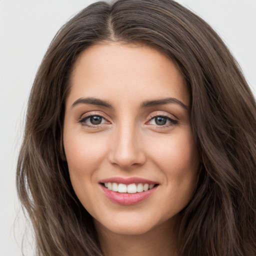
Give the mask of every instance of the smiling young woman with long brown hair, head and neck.
M 17 188 L 38 255 L 255 255 L 256 104 L 171 0 L 97 2 L 31 90 Z

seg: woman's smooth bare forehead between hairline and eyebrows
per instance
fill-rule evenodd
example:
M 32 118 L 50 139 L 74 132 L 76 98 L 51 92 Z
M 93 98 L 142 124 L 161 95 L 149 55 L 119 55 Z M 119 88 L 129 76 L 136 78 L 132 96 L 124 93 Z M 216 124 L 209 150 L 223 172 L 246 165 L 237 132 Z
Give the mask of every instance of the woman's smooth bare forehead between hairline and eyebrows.
M 130 103 L 176 97 L 189 105 L 185 81 L 174 62 L 149 46 L 113 42 L 86 48 L 74 63 L 67 104 L 88 96 Z

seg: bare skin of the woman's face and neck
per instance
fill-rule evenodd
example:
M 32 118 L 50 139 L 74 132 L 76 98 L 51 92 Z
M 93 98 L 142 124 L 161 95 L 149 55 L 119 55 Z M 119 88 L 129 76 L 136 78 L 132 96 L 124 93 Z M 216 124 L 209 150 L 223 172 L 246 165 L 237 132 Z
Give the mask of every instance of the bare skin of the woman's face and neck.
M 87 97 L 112 107 L 77 103 Z M 181 104 L 141 108 L 146 100 L 166 97 Z M 177 213 L 193 195 L 199 167 L 189 104 L 177 66 L 154 48 L 106 42 L 77 58 L 63 143 L 72 186 L 94 218 L 105 255 L 176 255 Z M 91 124 L 89 115 L 103 116 L 101 123 Z M 166 124 L 156 123 L 159 115 L 166 116 Z M 121 205 L 110 201 L 98 183 L 113 176 L 159 185 L 144 201 Z

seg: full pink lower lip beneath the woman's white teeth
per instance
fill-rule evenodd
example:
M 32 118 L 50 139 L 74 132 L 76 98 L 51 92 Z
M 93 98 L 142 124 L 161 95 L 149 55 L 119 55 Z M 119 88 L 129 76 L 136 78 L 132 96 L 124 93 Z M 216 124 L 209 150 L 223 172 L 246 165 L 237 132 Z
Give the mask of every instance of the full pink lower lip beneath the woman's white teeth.
M 147 191 L 137 193 L 118 193 L 107 189 L 104 185 L 101 185 L 101 187 L 109 200 L 122 205 L 132 205 L 139 203 L 148 198 L 157 188 L 157 186 L 154 186 L 153 188 Z

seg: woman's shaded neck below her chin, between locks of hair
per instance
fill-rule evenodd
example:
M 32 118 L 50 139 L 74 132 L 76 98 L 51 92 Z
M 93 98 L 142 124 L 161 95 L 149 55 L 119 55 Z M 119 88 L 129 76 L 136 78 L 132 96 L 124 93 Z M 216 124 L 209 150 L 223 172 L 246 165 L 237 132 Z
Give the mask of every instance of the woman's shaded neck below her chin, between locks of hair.
M 113 233 L 95 221 L 104 256 L 176 256 L 174 228 L 170 221 L 142 234 Z

